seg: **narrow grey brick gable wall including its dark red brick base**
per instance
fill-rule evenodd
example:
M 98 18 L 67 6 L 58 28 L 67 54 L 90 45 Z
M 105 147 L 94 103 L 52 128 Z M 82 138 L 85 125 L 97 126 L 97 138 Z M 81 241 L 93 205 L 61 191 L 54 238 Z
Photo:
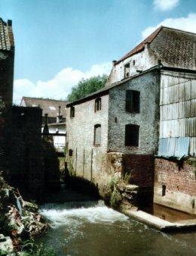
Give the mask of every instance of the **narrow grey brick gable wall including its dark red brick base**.
M 123 169 L 130 174 L 131 183 L 152 188 L 154 184 L 154 155 L 158 150 L 159 73 L 151 71 L 136 76 L 109 91 L 109 152 L 123 154 Z M 126 90 L 140 92 L 139 113 L 125 109 Z M 139 146 L 125 145 L 125 125 L 139 126 Z

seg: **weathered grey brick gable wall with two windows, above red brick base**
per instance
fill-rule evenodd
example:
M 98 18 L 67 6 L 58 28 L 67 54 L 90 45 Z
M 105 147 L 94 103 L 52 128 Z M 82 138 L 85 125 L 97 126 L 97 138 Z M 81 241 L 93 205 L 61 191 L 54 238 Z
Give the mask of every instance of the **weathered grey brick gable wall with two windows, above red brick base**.
M 151 71 L 124 82 L 109 91 L 109 151 L 131 155 L 155 155 L 159 127 L 158 71 Z M 125 109 L 126 90 L 140 92 L 139 113 Z M 139 126 L 139 146 L 125 146 L 125 125 Z

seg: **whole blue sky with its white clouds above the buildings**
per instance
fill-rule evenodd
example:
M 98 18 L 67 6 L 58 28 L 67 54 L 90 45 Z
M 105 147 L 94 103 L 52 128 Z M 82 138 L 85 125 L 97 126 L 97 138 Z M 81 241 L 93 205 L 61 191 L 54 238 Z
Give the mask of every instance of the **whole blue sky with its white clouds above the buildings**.
M 13 21 L 15 104 L 65 99 L 161 24 L 196 33 L 195 0 L 0 0 L 0 17 Z

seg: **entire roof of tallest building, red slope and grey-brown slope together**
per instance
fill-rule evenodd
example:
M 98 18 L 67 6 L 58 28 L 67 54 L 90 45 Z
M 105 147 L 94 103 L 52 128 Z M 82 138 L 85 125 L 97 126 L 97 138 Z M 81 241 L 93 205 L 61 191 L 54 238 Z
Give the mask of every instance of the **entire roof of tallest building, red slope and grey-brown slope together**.
M 165 66 L 195 70 L 196 34 L 162 26 L 158 27 L 157 30 L 140 42 L 127 55 L 116 61 L 115 65 L 126 58 L 142 52 L 147 43 L 149 43 L 149 48 L 155 52 L 155 55 Z

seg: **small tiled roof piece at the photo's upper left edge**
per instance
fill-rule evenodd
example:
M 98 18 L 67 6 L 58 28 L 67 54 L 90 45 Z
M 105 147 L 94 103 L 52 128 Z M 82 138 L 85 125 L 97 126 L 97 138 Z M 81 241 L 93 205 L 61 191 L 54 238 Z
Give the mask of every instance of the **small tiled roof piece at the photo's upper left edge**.
M 12 21 L 8 23 L 0 17 L 0 50 L 11 51 L 14 49 L 14 36 L 12 32 Z

